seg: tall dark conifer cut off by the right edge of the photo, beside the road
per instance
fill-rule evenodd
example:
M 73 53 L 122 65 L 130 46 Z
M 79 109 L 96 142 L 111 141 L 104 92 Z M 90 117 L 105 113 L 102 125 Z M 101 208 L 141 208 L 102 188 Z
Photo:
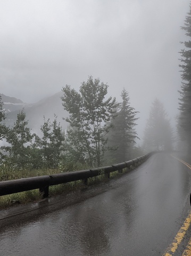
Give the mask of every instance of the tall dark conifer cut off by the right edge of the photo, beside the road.
M 184 42 L 186 49 L 182 49 L 180 52 L 182 57 L 180 60 L 182 64 L 179 66 L 182 68 L 182 85 L 181 91 L 179 91 L 180 116 L 178 121 L 178 131 L 180 138 L 187 142 L 188 154 L 191 154 L 191 4 L 187 14 L 185 26 L 181 27 L 181 29 L 186 31 L 188 41 Z

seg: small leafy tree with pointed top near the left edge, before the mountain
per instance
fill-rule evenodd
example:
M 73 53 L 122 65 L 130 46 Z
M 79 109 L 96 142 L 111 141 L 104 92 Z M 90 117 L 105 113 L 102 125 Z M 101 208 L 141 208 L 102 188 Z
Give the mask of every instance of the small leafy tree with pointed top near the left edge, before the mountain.
M 34 134 L 31 134 L 27 127 L 26 114 L 20 111 L 17 120 L 12 128 L 6 129 L 6 141 L 10 146 L 4 146 L 4 150 L 9 152 L 9 159 L 15 167 L 25 167 L 30 164 L 30 147 Z

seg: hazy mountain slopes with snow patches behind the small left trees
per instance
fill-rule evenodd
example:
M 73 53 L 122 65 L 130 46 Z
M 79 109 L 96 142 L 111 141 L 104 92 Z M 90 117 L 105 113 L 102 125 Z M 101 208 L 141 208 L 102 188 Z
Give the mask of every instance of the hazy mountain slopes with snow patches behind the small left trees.
M 51 122 L 54 120 L 54 114 L 57 115 L 57 121 L 61 123 L 63 129 L 67 129 L 68 123 L 63 120 L 68 116 L 68 112 L 62 106 L 61 96 L 63 92 L 57 92 L 51 97 L 44 98 L 37 103 L 27 104 L 22 100 L 12 98 L 9 96 L 1 95 L 4 102 L 3 108 L 6 111 L 5 125 L 12 127 L 16 121 L 17 114 L 22 108 L 26 113 L 26 120 L 29 120 L 28 127 L 31 128 L 33 133 L 41 134 L 40 126 L 44 124 L 48 118 Z M 4 101 L 6 100 L 6 102 Z

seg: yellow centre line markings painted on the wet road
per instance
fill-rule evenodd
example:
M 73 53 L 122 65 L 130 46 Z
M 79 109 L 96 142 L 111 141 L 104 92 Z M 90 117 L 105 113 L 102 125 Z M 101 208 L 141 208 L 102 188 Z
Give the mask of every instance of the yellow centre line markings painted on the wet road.
M 171 154 L 172 156 L 172 154 Z M 172 156 L 173 158 L 176 158 L 174 156 Z M 186 165 L 190 170 L 191 170 L 191 165 L 189 165 L 187 162 L 176 158 L 178 161 L 182 162 L 182 164 Z M 171 243 L 171 245 L 168 247 L 167 251 L 163 254 L 163 256 L 172 256 L 173 253 L 176 252 L 178 245 L 181 243 L 182 239 L 184 238 L 186 231 L 188 230 L 189 226 L 191 223 L 191 211 L 188 214 L 184 224 L 182 225 L 182 227 L 180 228 L 180 230 L 178 231 L 175 239 L 173 239 L 173 242 Z M 183 252 L 182 256 L 191 256 L 191 239 L 188 242 L 188 245 L 186 247 L 186 250 Z

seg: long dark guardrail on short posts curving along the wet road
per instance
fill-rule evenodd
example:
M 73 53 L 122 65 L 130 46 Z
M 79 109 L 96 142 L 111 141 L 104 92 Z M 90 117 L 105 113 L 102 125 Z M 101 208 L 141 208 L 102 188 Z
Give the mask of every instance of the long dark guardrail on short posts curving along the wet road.
M 88 178 L 95 177 L 98 175 L 105 174 L 110 178 L 110 173 L 118 171 L 122 173 L 122 169 L 130 168 L 130 166 L 135 166 L 141 164 L 144 160 L 151 156 L 153 152 L 145 154 L 144 156 L 121 162 L 120 164 L 115 164 L 111 166 L 104 166 L 94 169 L 78 170 L 68 173 L 59 173 L 49 176 L 38 176 L 30 177 L 19 180 L 11 181 L 1 181 L 0 182 L 0 196 L 10 195 L 12 193 L 18 193 L 33 189 L 39 189 L 42 198 L 48 197 L 49 186 L 58 185 L 63 183 L 68 183 L 71 181 L 83 180 L 85 184 L 88 182 Z

